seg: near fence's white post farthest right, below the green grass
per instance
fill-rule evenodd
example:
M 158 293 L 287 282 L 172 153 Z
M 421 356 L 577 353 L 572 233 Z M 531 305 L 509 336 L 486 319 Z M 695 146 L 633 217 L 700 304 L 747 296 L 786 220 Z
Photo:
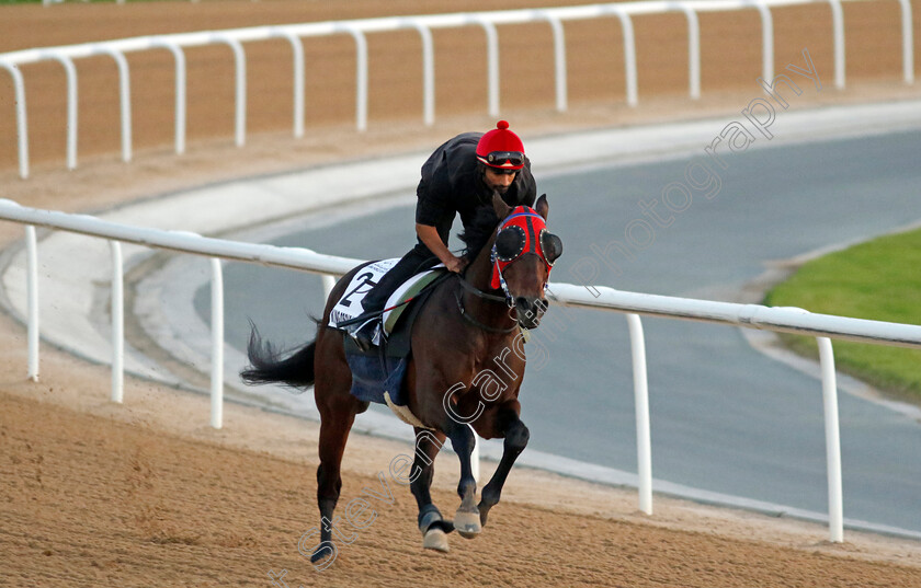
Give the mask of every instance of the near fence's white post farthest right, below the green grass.
M 816 337 L 822 368 L 822 405 L 825 407 L 826 459 L 828 461 L 828 530 L 834 543 L 844 541 L 844 506 L 841 482 L 841 433 L 838 423 L 838 384 L 834 376 L 834 353 L 828 337 Z

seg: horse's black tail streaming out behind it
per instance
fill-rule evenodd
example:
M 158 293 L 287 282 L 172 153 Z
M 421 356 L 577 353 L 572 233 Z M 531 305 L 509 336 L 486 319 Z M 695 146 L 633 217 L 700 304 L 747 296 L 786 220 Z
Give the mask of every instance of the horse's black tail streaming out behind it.
M 276 351 L 269 342 L 263 343 L 255 325 L 247 345 L 250 367 L 240 371 L 240 378 L 248 384 L 282 382 L 297 388 L 314 384 L 314 351 L 317 342 L 311 341 L 300 349 L 282 359 L 285 351 Z

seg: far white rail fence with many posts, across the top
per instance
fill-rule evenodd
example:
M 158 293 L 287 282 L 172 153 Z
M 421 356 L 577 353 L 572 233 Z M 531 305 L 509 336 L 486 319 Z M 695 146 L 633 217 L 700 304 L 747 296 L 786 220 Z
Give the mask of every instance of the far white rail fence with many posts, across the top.
M 167 49 L 175 61 L 175 115 L 174 149 L 178 154 L 185 152 L 185 106 L 186 71 L 183 49 L 204 45 L 227 45 L 234 53 L 236 67 L 236 108 L 235 139 L 242 147 L 247 135 L 247 60 L 243 43 L 287 39 L 294 56 L 294 96 L 293 132 L 304 136 L 305 108 L 305 59 L 302 39 L 330 35 L 351 35 L 355 41 L 355 126 L 367 128 L 368 104 L 368 33 L 414 30 L 422 42 L 422 117 L 425 125 L 435 120 L 435 60 L 432 30 L 478 26 L 486 34 L 487 44 L 487 107 L 490 116 L 499 116 L 499 33 L 497 26 L 546 22 L 550 25 L 554 37 L 555 92 L 556 108 L 568 108 L 566 37 L 564 22 L 589 19 L 616 18 L 621 22 L 624 39 L 624 69 L 626 78 L 626 101 L 630 106 L 638 102 L 636 42 L 633 31 L 633 18 L 646 14 L 683 13 L 687 20 L 687 78 L 689 94 L 696 100 L 701 96 L 701 27 L 697 14 L 702 12 L 727 12 L 758 10 L 761 15 L 762 71 L 764 80 L 774 77 L 774 25 L 771 8 L 800 4 L 828 4 L 832 16 L 834 46 L 834 84 L 844 88 L 844 12 L 842 2 L 898 1 L 901 7 L 902 78 L 906 83 L 914 82 L 914 53 L 910 0 L 676 0 L 619 2 L 591 4 L 582 7 L 548 8 L 538 10 L 508 10 L 496 12 L 454 13 L 420 16 L 391 16 L 353 21 L 334 21 L 277 26 L 259 26 L 216 32 L 183 33 L 125 38 L 120 41 L 87 43 L 61 47 L 44 47 L 0 54 L 0 69 L 12 77 L 15 99 L 16 137 L 19 172 L 29 177 L 29 125 L 26 114 L 25 85 L 20 67 L 39 61 L 58 61 L 67 74 L 67 168 L 77 166 L 77 68 L 75 59 L 107 55 L 118 68 L 120 104 L 122 126 L 122 159 L 132 160 L 132 106 L 130 74 L 125 54 Z M 894 32 L 895 34 L 895 32 Z

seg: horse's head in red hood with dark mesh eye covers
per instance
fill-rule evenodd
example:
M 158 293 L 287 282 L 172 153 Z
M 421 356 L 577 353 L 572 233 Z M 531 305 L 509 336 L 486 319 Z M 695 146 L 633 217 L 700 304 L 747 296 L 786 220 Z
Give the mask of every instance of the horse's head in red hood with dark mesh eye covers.
M 521 326 L 534 328 L 547 310 L 547 279 L 562 254 L 562 241 L 547 230 L 546 195 L 537 199 L 534 208 L 512 208 L 494 194 L 492 208 L 503 220 L 492 244 L 490 286 L 502 289 Z

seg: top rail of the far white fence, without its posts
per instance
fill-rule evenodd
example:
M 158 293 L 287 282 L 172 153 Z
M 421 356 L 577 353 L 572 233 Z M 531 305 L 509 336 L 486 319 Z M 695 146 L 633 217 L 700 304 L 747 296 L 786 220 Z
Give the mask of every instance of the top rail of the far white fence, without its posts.
M 57 47 L 41 47 L 22 49 L 0 54 L 0 61 L 22 65 L 47 59 L 55 56 L 81 58 L 98 55 L 101 46 L 128 53 L 162 48 L 162 43 L 173 43 L 183 47 L 208 45 L 217 41 L 232 38 L 238 42 L 268 41 L 276 38 L 282 32 L 299 37 L 326 36 L 339 33 L 360 31 L 362 33 L 379 33 L 416 28 L 419 25 L 429 28 L 447 28 L 457 26 L 478 25 L 482 21 L 492 24 L 522 24 L 546 20 L 547 16 L 561 21 L 595 19 L 599 16 L 660 14 L 662 12 L 719 12 L 746 8 L 784 7 L 799 4 L 839 4 L 840 2 L 857 2 L 868 0 L 675 0 L 675 1 L 637 1 L 616 2 L 606 4 L 589 4 L 581 7 L 561 7 L 545 9 L 502 10 L 492 12 L 458 12 L 450 14 L 427 14 L 411 16 L 384 16 L 377 19 L 357 19 L 351 21 L 325 21 L 303 24 L 282 24 L 271 26 L 251 26 L 245 28 L 229 28 L 224 31 L 204 31 L 195 33 L 175 33 L 168 35 L 150 35 L 115 41 L 100 41 L 79 45 Z M 903 2 L 907 0 L 898 0 Z

